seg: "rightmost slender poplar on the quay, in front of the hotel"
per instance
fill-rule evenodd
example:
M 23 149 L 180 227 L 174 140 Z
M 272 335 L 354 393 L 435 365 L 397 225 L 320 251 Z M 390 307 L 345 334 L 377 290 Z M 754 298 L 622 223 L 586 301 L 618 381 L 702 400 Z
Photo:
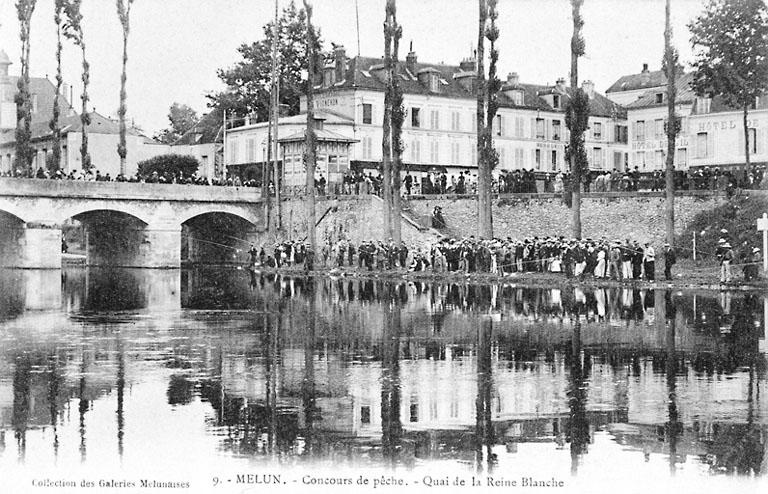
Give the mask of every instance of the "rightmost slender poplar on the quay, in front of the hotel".
M 667 68 L 667 161 L 666 161 L 666 238 L 670 247 L 675 247 L 675 140 L 677 138 L 677 116 L 675 115 L 677 67 L 672 49 L 672 25 L 670 21 L 670 3 L 666 0 L 664 58 Z

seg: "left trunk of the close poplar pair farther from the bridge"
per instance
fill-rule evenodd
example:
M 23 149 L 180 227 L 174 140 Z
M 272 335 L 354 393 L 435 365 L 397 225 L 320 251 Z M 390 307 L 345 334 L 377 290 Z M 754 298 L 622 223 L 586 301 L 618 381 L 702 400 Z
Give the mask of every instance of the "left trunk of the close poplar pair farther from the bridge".
M 493 237 L 492 225 L 490 222 L 490 194 L 483 191 L 490 191 L 489 184 L 486 183 L 485 170 L 488 166 L 486 156 L 486 88 L 485 88 L 485 24 L 488 20 L 488 2 L 479 0 L 479 17 L 477 24 L 477 235 L 480 238 Z

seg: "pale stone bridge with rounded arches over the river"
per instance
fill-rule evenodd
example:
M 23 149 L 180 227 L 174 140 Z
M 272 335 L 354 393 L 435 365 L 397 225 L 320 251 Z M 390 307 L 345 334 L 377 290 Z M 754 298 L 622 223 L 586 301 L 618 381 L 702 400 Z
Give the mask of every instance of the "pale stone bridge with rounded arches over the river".
M 75 220 L 89 265 L 243 259 L 264 230 L 261 204 L 256 188 L 0 178 L 0 267 L 60 268 Z

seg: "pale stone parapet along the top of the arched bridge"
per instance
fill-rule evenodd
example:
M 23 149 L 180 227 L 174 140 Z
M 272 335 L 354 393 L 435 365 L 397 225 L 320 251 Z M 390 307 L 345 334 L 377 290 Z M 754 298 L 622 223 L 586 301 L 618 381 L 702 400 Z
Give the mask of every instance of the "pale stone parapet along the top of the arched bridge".
M 0 178 L 0 197 L 113 198 L 122 200 L 259 202 L 261 189 L 255 187 L 206 186 L 191 184 L 148 184 L 134 182 L 84 182 L 35 178 Z

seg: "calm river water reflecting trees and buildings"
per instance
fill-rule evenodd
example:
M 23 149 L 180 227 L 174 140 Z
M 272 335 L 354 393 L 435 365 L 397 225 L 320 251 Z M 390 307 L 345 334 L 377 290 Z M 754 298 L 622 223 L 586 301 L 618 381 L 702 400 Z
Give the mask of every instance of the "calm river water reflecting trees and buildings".
M 744 292 L 0 271 L 0 478 L 760 490 L 766 311 Z

